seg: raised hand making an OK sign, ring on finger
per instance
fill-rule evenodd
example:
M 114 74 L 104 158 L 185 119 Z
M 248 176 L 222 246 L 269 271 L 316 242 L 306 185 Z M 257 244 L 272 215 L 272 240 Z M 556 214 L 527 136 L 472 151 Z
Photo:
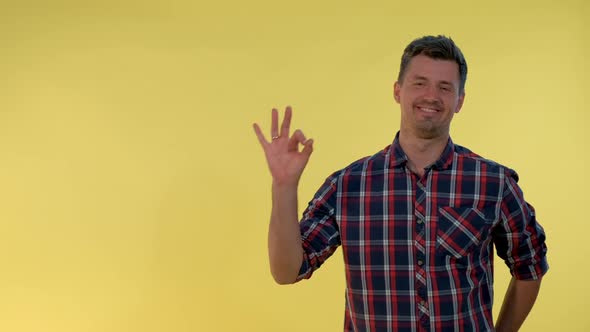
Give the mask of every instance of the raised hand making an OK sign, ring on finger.
M 295 130 L 293 135 L 289 137 L 291 115 L 291 107 L 287 106 L 279 132 L 279 113 L 276 109 L 272 110 L 270 142 L 264 137 L 260 126 L 254 124 L 254 131 L 264 150 L 273 182 L 280 186 L 296 186 L 299 183 L 301 174 L 313 151 L 313 140 L 306 139 L 301 130 Z M 303 145 L 302 151 L 299 151 L 299 144 Z

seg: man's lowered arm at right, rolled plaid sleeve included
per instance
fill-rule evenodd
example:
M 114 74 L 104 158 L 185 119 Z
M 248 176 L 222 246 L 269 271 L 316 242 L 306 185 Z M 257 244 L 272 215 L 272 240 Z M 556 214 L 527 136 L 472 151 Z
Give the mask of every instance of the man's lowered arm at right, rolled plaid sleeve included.
M 545 232 L 517 185 L 514 171 L 506 174 L 501 204 L 501 224 L 494 230 L 497 253 L 510 268 L 512 280 L 496 322 L 496 330 L 518 331 L 531 311 L 541 278 L 549 269 Z

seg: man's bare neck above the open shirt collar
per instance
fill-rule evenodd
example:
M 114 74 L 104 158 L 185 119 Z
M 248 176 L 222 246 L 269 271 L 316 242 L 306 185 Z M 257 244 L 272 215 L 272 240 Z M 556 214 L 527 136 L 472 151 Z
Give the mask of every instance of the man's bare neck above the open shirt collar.
M 448 140 L 448 133 L 435 138 L 420 138 L 405 131 L 400 131 L 399 135 L 399 143 L 408 156 L 409 169 L 420 176 L 424 175 L 424 168 L 440 158 Z

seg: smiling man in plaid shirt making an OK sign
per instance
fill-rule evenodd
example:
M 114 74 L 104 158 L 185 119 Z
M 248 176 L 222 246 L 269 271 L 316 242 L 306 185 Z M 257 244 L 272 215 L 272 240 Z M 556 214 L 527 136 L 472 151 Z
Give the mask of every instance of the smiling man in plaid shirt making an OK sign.
M 517 331 L 533 306 L 547 248 L 518 176 L 449 136 L 466 76 L 451 39 L 410 43 L 394 85 L 395 140 L 328 177 L 301 223 L 297 185 L 313 141 L 289 136 L 289 107 L 280 131 L 272 111 L 270 142 L 254 125 L 273 179 L 272 275 L 309 278 L 341 245 L 346 331 Z M 494 246 L 513 276 L 495 327 Z

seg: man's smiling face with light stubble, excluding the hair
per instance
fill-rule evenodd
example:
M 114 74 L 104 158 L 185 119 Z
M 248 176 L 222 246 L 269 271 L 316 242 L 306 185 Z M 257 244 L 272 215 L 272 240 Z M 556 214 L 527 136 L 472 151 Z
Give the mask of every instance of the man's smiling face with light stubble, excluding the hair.
M 459 65 L 417 55 L 410 60 L 394 97 L 402 111 L 401 128 L 418 138 L 447 136 L 453 115 L 463 106 Z

